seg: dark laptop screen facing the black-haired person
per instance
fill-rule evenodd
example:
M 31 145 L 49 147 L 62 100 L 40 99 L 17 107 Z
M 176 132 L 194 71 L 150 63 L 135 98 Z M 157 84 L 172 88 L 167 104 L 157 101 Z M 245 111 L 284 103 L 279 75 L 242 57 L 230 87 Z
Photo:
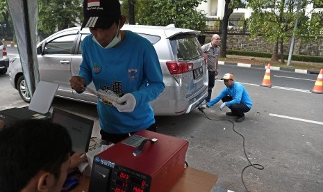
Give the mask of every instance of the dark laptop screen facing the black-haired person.
M 62 125 L 67 129 L 72 139 L 73 152 L 88 152 L 94 125 L 93 120 L 54 108 L 51 122 Z

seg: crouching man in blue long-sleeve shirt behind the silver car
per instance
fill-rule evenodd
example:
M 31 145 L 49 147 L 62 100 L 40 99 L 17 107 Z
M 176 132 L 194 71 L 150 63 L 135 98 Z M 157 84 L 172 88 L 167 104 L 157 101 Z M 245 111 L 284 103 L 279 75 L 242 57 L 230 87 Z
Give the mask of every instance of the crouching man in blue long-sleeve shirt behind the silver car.
M 233 74 L 224 74 L 222 80 L 224 80 L 226 88 L 217 97 L 206 103 L 205 106 L 201 106 L 201 108 L 213 106 L 222 99 L 223 104 L 221 104 L 220 109 L 222 110 L 225 106 L 228 106 L 231 112 L 227 112 L 226 115 L 238 116 L 235 122 L 242 122 L 245 120 L 245 113 L 250 111 L 252 106 L 247 90 L 240 83 L 234 82 Z

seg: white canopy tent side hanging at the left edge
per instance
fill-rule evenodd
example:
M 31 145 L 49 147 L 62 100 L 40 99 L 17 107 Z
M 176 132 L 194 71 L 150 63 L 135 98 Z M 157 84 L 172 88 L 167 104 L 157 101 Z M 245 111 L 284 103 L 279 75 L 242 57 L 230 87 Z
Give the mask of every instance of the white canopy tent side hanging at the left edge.
M 39 82 L 38 59 L 36 50 L 38 0 L 7 0 L 22 70 L 31 97 Z

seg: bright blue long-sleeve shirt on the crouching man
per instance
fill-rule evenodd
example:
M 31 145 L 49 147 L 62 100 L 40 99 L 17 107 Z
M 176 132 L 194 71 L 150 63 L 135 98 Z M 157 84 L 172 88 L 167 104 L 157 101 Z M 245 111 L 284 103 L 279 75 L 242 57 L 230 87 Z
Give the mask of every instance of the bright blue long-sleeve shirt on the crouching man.
M 233 87 L 232 88 L 224 88 L 222 90 L 222 92 L 217 95 L 217 97 L 215 97 L 214 99 L 212 99 L 210 102 L 208 102 L 208 107 L 213 106 L 214 104 L 216 104 L 217 102 L 219 102 L 223 97 L 225 96 L 231 96 L 233 99 L 230 102 L 226 102 L 226 106 L 231 106 L 231 104 L 246 104 L 249 109 L 251 109 L 252 107 L 252 102 L 251 99 L 248 95 L 247 90 L 245 89 L 244 86 L 242 86 L 240 83 L 233 83 Z

